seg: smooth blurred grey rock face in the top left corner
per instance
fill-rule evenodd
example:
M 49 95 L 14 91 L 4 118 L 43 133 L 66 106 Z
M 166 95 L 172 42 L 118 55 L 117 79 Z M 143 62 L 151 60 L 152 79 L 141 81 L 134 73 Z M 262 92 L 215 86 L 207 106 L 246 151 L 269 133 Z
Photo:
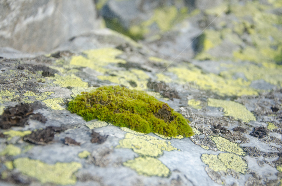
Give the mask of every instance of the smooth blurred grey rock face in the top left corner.
M 1 0 L 0 12 L 0 46 L 25 52 L 51 51 L 99 27 L 92 0 Z

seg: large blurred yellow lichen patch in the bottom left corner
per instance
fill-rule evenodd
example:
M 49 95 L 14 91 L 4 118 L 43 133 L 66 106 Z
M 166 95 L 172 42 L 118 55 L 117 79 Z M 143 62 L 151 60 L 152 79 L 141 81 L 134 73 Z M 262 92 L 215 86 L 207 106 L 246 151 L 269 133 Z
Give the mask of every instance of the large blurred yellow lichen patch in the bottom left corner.
M 78 162 L 56 163 L 49 165 L 39 160 L 27 157 L 14 160 L 14 166 L 22 174 L 38 179 L 42 184 L 74 185 L 76 177 L 73 175 L 82 166 Z

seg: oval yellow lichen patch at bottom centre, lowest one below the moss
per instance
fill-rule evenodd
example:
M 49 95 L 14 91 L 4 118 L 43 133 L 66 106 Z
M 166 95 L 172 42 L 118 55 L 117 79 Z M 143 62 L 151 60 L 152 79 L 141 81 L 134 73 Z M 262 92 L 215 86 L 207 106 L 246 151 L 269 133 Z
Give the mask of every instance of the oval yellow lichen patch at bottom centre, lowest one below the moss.
M 169 169 L 160 160 L 153 157 L 137 157 L 124 162 L 123 165 L 145 176 L 168 177 L 170 174 Z

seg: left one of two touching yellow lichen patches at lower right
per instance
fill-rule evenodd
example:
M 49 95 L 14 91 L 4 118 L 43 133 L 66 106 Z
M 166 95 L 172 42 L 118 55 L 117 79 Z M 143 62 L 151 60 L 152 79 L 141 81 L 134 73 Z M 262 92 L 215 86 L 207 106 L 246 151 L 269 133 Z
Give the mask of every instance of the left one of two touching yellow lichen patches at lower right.
M 226 166 L 224 163 L 217 158 L 217 155 L 214 154 L 202 154 L 201 156 L 202 162 L 204 162 L 206 165 L 209 166 L 212 170 L 218 172 L 218 171 L 227 171 Z

